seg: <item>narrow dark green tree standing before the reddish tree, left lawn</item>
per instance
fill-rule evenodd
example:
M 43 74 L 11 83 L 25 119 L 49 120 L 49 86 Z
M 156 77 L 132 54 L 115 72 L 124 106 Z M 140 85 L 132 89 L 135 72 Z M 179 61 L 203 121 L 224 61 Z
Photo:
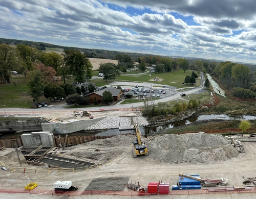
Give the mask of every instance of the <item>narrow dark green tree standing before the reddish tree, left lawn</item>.
M 38 102 L 40 96 L 44 95 L 44 84 L 42 82 L 42 72 L 40 70 L 32 70 L 29 73 L 29 95 Z

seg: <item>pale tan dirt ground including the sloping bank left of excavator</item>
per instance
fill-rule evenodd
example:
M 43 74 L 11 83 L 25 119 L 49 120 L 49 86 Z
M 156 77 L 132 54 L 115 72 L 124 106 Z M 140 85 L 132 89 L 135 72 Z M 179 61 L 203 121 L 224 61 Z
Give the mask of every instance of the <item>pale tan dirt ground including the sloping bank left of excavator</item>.
M 178 182 L 179 173 L 198 173 L 202 178 L 227 178 L 229 179 L 230 186 L 242 185 L 244 179 L 248 177 L 255 177 L 256 168 L 255 154 L 256 143 L 243 142 L 246 153 L 238 154 L 236 157 L 209 164 L 203 163 L 167 163 L 161 160 L 154 159 L 149 152 L 149 156 L 140 156 L 133 158 L 132 155 L 132 141 L 135 136 L 117 136 L 115 139 L 110 140 L 95 140 L 86 144 L 77 145 L 72 147 L 70 152 L 67 152 L 68 156 L 76 155 L 76 159 L 81 158 L 92 159 L 94 153 L 94 160 L 98 163 L 104 162 L 108 159 L 108 162 L 97 166 L 92 169 L 84 169 L 77 171 L 63 171 L 49 169 L 45 167 L 39 167 L 35 165 L 25 164 L 27 172 L 23 174 L 23 169 L 18 162 L 15 162 L 13 157 L 14 150 L 4 150 L 0 152 L 0 161 L 5 165 L 15 168 L 12 170 L 1 169 L 0 182 L 2 189 L 23 189 L 27 183 L 31 183 L 31 180 L 38 184 L 36 189 L 53 190 L 53 184 L 58 181 L 72 181 L 74 186 L 77 186 L 80 191 L 85 190 L 93 179 L 98 178 L 118 178 L 118 177 L 130 177 L 131 180 L 136 180 L 146 187 L 148 182 L 169 182 L 170 185 L 176 185 Z M 146 141 L 146 140 L 144 140 Z M 162 146 L 164 147 L 164 146 Z M 89 152 L 91 148 L 91 152 Z M 99 149 L 97 152 L 94 149 Z M 150 150 L 150 148 L 149 148 Z M 80 153 L 77 153 L 80 152 Z M 108 153 L 107 156 L 104 153 Z M 105 158 L 104 158 L 105 156 Z M 65 164 L 65 163 L 63 163 Z M 29 174 L 29 176 L 28 176 Z M 25 178 L 26 177 L 26 181 Z M 30 180 L 31 178 L 31 180 Z M 125 188 L 125 191 L 129 189 Z M 52 196 L 52 195 L 29 195 L 23 194 L 10 194 L 0 193 L 2 198 L 68 198 L 68 196 Z M 70 196 L 74 198 L 127 198 L 127 196 L 119 195 L 87 195 L 87 196 Z M 242 193 L 242 194 L 200 194 L 200 195 L 159 195 L 159 196 L 144 196 L 146 198 L 255 198 L 256 193 Z M 134 198 L 140 198 L 140 196 L 134 196 Z

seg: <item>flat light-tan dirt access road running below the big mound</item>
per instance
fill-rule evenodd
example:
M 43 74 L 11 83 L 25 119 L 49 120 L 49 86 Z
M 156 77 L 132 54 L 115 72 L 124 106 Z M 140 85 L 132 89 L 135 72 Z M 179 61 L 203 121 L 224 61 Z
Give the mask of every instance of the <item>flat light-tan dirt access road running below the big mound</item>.
M 87 153 L 86 147 L 82 148 L 81 153 Z M 130 177 L 130 180 L 139 181 L 142 186 L 146 186 L 148 182 L 170 182 L 175 185 L 178 182 L 178 174 L 196 173 L 199 172 L 202 178 L 227 178 L 230 186 L 241 185 L 242 181 L 248 177 L 255 177 L 256 168 L 255 163 L 256 143 L 244 142 L 245 154 L 240 154 L 238 158 L 233 158 L 225 162 L 217 162 L 214 164 L 168 164 L 161 161 L 156 161 L 148 157 L 138 157 L 136 159 L 132 156 L 132 144 L 118 144 L 117 146 L 105 147 L 102 145 L 94 145 L 91 147 L 104 148 L 104 150 L 115 151 L 123 150 L 121 154 L 112 157 L 112 162 L 102 165 L 94 169 L 76 171 L 76 172 L 60 172 L 52 171 L 48 173 L 47 169 L 38 168 L 33 165 L 26 165 L 31 179 L 38 183 L 38 189 L 53 190 L 53 184 L 58 180 L 72 181 L 73 185 L 77 186 L 79 190 L 84 190 L 95 178 L 109 178 L 109 177 Z M 6 155 L 5 152 L 0 152 L 0 159 L 2 162 L 15 168 L 20 168 L 18 163 L 13 162 L 12 156 Z M 114 153 L 113 153 L 114 154 Z M 35 173 L 35 169 L 39 172 Z M 17 169 L 11 173 L 10 170 L 1 170 L 0 182 L 2 188 L 24 188 L 26 182 L 22 169 Z M 28 175 L 27 181 L 30 183 Z M 127 190 L 127 188 L 125 189 Z M 4 196 L 4 195 L 3 195 Z M 8 195 L 9 196 L 9 195 Z M 12 195 L 13 198 L 15 194 Z M 228 197 L 229 196 L 229 197 Z M 32 196 L 33 197 L 33 196 Z M 49 198 L 50 196 L 40 196 L 42 198 Z M 127 198 L 127 196 L 75 196 L 76 198 Z M 148 196 L 149 198 L 150 196 Z M 151 198 L 256 198 L 253 194 L 214 194 L 214 195 L 185 195 L 185 196 L 153 196 Z M 21 198 L 21 197 L 19 197 Z M 27 197 L 29 198 L 29 197 Z M 34 196 L 34 198 L 39 198 Z M 55 198 L 55 197 L 52 197 Z M 57 197 L 56 197 L 57 198 Z M 66 198 L 66 197 L 59 197 Z M 137 198 L 137 197 L 135 197 Z M 139 198 L 139 197 L 138 197 Z

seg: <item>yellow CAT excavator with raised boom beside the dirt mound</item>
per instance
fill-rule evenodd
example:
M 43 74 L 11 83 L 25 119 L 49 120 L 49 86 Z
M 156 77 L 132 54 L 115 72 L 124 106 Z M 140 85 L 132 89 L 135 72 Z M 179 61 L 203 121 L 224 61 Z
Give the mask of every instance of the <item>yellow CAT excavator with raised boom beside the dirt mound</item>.
M 137 139 L 133 142 L 133 157 L 137 158 L 139 155 L 148 156 L 146 144 L 141 143 L 141 133 L 138 123 L 135 124 L 135 132 Z

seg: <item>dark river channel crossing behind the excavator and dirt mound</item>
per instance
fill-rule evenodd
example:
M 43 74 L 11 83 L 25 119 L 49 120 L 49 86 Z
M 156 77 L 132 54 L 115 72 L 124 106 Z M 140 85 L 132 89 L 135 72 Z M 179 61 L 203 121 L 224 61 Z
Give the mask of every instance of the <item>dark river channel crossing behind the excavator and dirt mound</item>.
M 256 116 L 250 116 L 250 115 L 228 116 L 228 115 L 224 115 L 224 114 L 200 115 L 197 117 L 189 117 L 187 119 L 183 119 L 183 120 L 176 121 L 176 122 L 166 123 L 165 125 L 155 125 L 155 126 L 151 126 L 151 127 L 140 127 L 140 131 L 142 134 L 155 134 L 164 129 L 171 129 L 174 127 L 188 125 L 189 123 L 193 123 L 196 121 L 209 120 L 209 119 L 253 120 L 253 119 L 256 119 Z M 12 137 L 20 138 L 20 135 L 22 135 L 24 133 L 31 133 L 31 132 L 2 133 L 2 134 L 0 134 L 0 139 L 11 139 Z M 79 132 L 75 132 L 75 133 L 70 133 L 68 135 L 69 136 L 91 136 L 91 135 L 111 136 L 111 135 L 120 135 L 120 134 L 126 134 L 126 133 L 134 133 L 134 132 L 121 131 L 121 133 L 120 133 L 118 129 L 109 129 L 109 130 L 95 130 L 95 131 L 79 131 Z M 61 134 L 61 137 L 65 137 L 65 136 L 66 136 L 66 134 Z

